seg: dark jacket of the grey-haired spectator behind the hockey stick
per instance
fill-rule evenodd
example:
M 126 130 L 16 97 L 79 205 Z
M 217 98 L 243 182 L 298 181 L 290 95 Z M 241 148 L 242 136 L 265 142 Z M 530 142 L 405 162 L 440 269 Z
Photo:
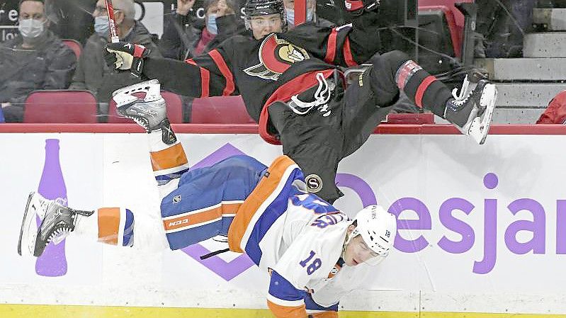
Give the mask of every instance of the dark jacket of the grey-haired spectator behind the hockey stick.
M 152 42 L 152 36 L 145 26 L 136 21 L 130 33 L 121 39 L 125 42 L 144 45 L 152 50 L 149 56 L 161 57 L 157 45 Z M 140 79 L 130 72 L 115 72 L 106 65 L 104 61 L 104 50 L 106 50 L 106 38 L 97 33 L 90 36 L 86 41 L 77 72 L 73 76 L 70 89 L 86 89 L 91 91 L 98 101 L 107 103 L 110 101 L 112 92 L 124 86 L 140 82 Z M 104 113 L 104 112 L 103 112 Z

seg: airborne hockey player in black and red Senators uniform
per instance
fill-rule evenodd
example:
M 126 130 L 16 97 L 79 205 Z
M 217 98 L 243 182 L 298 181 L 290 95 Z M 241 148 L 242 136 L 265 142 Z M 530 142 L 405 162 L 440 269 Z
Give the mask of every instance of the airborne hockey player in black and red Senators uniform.
M 141 45 L 119 42 L 108 44 L 106 59 L 182 95 L 242 95 L 261 137 L 283 144 L 283 154 L 305 172 L 310 191 L 330 203 L 341 196 L 334 183 L 339 161 L 368 139 L 400 90 L 485 142 L 497 96 L 493 84 L 482 80 L 472 87 L 465 80 L 457 96 L 403 52 L 378 54 L 379 1 L 339 2 L 354 16 L 351 25 L 304 23 L 287 31 L 282 0 L 248 0 L 245 23 L 251 32 L 205 55 L 185 62 L 154 59 Z M 362 63 L 371 66 L 346 86 L 343 69 Z

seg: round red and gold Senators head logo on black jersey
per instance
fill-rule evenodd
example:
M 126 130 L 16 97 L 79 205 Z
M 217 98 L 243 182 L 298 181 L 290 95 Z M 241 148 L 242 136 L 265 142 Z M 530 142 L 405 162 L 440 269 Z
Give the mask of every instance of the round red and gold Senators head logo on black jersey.
M 244 69 L 246 74 L 276 81 L 291 64 L 309 59 L 305 49 L 271 34 L 259 47 L 259 64 Z

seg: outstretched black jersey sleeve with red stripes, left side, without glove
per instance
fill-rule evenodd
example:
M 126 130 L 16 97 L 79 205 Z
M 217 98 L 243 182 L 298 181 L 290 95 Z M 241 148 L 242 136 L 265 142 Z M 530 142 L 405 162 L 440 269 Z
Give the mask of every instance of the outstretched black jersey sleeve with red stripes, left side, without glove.
M 145 60 L 143 74 L 158 79 L 162 89 L 195 98 L 239 95 L 232 73 L 230 54 L 220 45 L 194 59 Z

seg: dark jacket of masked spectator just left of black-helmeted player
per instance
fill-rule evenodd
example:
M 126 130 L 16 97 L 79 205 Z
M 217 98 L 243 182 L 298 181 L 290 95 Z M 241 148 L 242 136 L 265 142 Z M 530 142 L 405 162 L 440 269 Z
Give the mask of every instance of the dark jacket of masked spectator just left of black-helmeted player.
M 244 23 L 235 14 L 227 14 L 216 18 L 218 34 L 211 40 L 203 50 L 208 52 L 222 43 L 222 41 L 230 38 L 232 35 L 243 33 L 246 31 Z M 189 15 L 181 16 L 173 13 L 166 16 L 163 28 L 163 36 L 159 42 L 164 57 L 170 59 L 185 60 L 194 57 L 195 50 L 200 41 L 200 35 L 203 33 L 205 25 L 202 21 L 196 21 Z

